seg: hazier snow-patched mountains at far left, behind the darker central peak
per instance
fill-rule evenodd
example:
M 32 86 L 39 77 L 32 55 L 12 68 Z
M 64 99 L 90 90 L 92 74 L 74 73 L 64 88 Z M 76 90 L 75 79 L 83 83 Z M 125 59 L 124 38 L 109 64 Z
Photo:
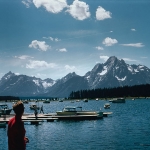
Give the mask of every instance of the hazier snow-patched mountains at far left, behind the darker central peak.
M 52 79 L 15 75 L 10 71 L 0 80 L 0 95 L 35 96 L 45 93 L 53 84 L 55 81 Z

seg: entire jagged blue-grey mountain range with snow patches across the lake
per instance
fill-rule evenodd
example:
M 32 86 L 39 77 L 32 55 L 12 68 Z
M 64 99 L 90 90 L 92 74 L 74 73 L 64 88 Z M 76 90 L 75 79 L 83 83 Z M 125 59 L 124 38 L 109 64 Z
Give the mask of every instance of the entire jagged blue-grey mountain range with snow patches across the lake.
M 123 59 L 111 56 L 105 63 L 98 63 L 84 76 L 75 72 L 53 80 L 9 71 L 0 80 L 0 96 L 68 97 L 72 91 L 113 88 L 150 84 L 150 69 L 144 65 L 129 65 Z

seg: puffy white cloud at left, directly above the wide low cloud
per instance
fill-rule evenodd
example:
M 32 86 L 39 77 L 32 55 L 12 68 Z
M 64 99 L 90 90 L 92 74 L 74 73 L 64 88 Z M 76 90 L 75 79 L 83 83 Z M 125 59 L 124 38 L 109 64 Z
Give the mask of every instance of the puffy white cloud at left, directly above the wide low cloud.
M 51 48 L 49 45 L 46 44 L 45 41 L 37 41 L 37 40 L 32 41 L 29 47 L 41 51 L 47 51 L 48 49 Z

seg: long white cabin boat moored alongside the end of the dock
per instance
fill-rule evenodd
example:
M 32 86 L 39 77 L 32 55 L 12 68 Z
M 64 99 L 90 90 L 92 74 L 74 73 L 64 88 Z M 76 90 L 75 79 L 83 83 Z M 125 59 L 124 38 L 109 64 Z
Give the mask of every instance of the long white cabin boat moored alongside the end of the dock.
M 58 116 L 67 116 L 67 115 L 99 115 L 98 111 L 86 111 L 82 110 L 82 107 L 72 107 L 67 106 L 62 111 L 57 111 Z

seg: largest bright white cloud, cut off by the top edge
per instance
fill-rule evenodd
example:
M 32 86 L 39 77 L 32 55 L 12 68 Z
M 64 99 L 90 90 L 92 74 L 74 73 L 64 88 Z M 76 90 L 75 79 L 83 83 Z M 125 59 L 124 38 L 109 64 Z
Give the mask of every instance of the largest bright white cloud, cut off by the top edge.
M 43 6 L 51 13 L 59 13 L 67 7 L 66 0 L 33 0 L 33 3 L 37 8 Z

